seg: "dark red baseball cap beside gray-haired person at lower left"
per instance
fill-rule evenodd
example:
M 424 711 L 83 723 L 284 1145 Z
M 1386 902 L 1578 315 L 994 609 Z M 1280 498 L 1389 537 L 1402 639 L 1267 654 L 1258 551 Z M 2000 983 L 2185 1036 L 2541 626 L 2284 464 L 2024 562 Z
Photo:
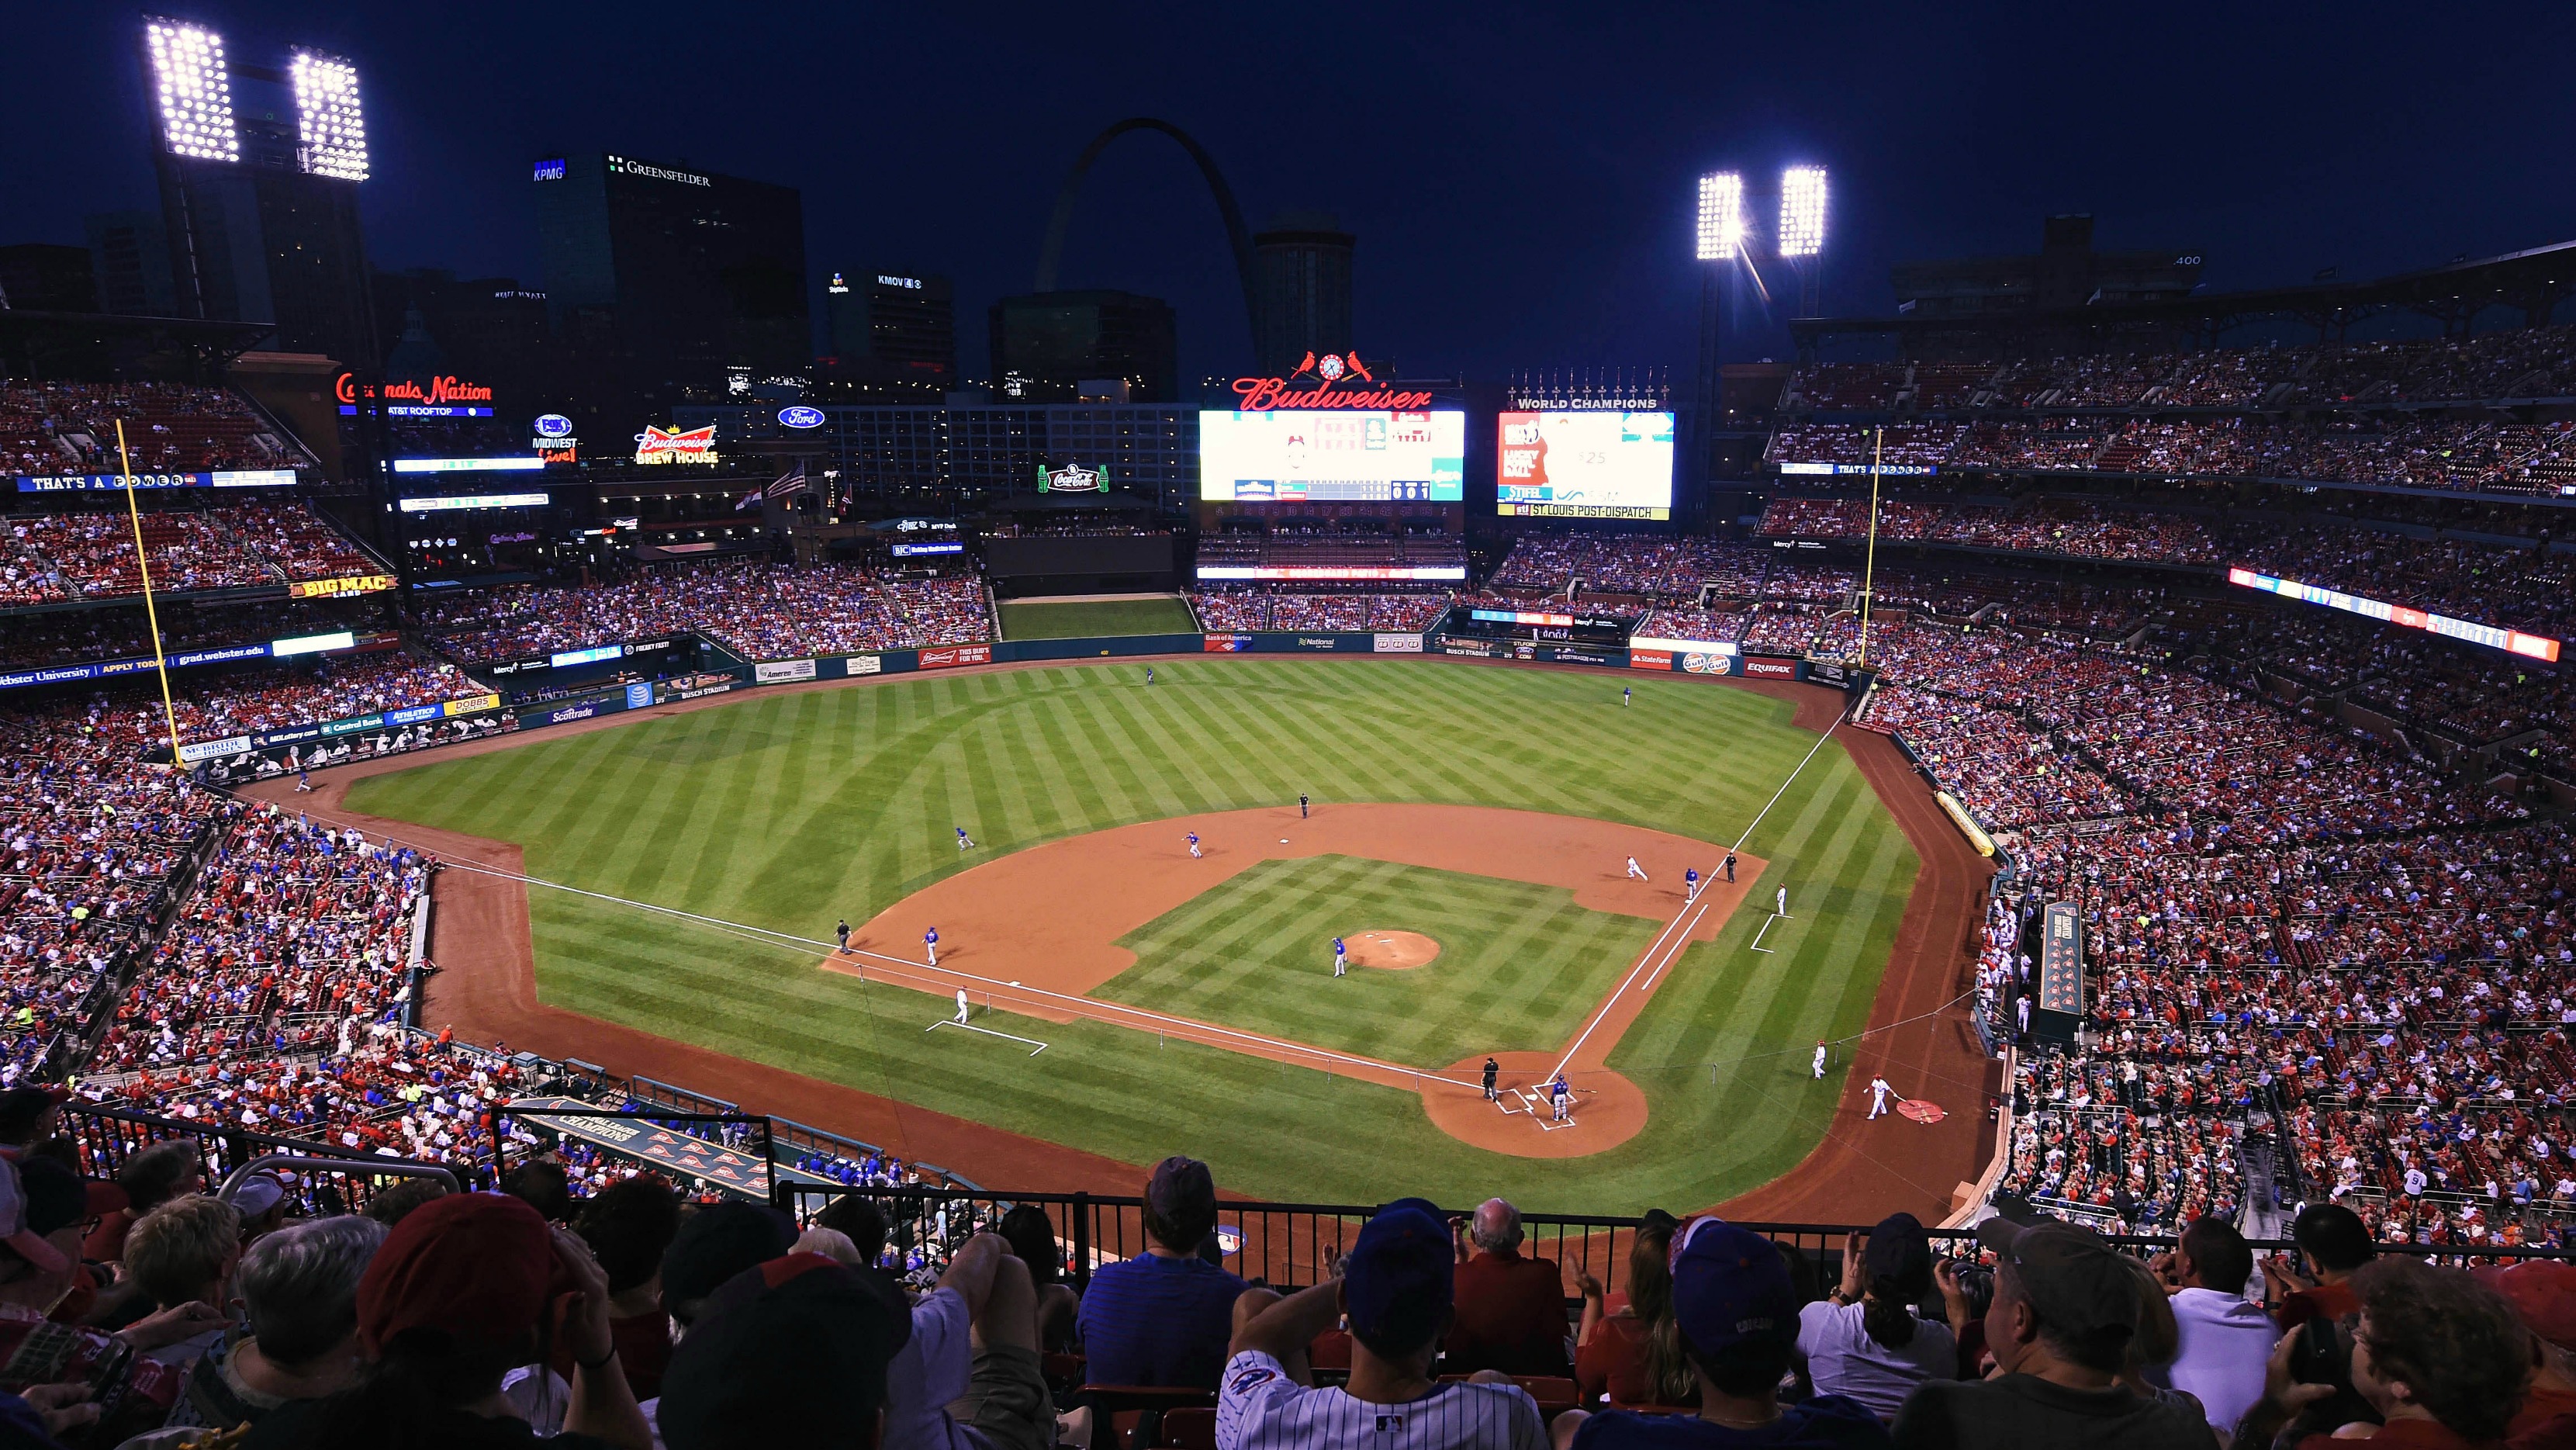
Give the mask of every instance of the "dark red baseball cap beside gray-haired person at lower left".
M 381 1357 L 412 1329 L 510 1344 L 556 1280 L 554 1234 L 523 1198 L 451 1192 L 402 1216 L 358 1280 L 358 1342 Z

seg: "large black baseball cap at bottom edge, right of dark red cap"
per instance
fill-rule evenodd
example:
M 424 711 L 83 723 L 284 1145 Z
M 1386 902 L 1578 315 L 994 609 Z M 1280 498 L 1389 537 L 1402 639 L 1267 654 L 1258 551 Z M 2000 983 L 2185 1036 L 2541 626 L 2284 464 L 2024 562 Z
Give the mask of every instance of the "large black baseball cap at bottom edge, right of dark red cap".
M 670 1450 L 855 1445 L 886 1404 L 886 1362 L 912 1337 L 876 1270 L 783 1254 L 716 1285 L 662 1375 Z

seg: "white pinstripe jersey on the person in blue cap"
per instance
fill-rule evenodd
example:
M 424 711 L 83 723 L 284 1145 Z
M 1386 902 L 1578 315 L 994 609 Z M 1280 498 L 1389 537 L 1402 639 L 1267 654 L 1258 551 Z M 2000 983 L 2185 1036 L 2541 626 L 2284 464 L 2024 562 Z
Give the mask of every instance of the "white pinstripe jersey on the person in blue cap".
M 1520 1386 L 1445 1383 L 1406 1404 L 1306 1388 L 1244 1350 L 1216 1388 L 1216 1450 L 1548 1450 L 1538 1401 Z

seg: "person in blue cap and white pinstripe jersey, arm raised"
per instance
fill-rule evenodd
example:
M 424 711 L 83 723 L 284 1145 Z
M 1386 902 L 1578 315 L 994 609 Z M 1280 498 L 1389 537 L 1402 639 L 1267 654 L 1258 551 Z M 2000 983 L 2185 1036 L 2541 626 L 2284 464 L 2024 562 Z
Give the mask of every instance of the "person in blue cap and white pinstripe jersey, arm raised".
M 1455 1308 L 1458 1254 L 1440 1210 L 1399 1198 L 1365 1226 L 1340 1277 L 1234 1306 L 1216 1386 L 1218 1450 L 1543 1450 L 1538 1401 L 1486 1370 L 1440 1383 L 1432 1362 Z M 1350 1383 L 1314 1388 L 1306 1344 L 1350 1321 Z

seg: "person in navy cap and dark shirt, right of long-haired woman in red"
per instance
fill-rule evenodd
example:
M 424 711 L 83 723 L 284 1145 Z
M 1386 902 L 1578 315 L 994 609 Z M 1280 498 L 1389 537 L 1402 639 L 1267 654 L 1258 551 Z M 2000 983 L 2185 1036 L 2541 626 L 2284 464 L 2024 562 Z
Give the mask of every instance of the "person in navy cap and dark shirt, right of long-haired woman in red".
M 1577 1422 L 1574 1450 L 1883 1450 L 1888 1429 L 1847 1396 L 1780 1404 L 1798 1344 L 1798 1290 L 1780 1249 L 1749 1229 L 1692 1218 L 1672 1239 L 1672 1313 L 1700 1380 L 1700 1414 L 1607 1409 Z

